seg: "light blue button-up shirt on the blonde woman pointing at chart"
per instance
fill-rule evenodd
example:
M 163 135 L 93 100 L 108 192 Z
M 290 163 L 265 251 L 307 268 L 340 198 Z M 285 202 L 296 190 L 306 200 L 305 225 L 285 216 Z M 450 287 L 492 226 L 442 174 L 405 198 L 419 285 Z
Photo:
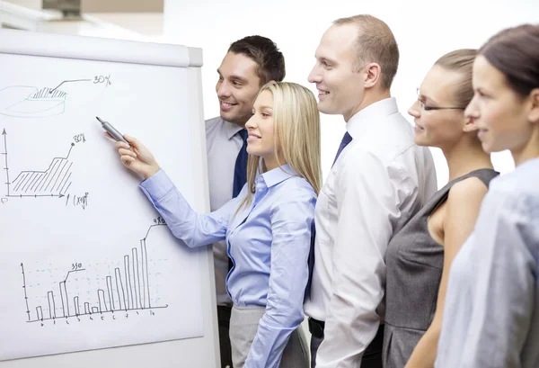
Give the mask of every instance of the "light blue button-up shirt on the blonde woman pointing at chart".
M 278 368 L 290 334 L 304 319 L 316 204 L 311 184 L 281 166 L 257 175 L 249 206 L 237 211 L 246 184 L 236 198 L 208 214 L 193 211 L 163 170 L 140 187 L 172 234 L 189 247 L 225 239 L 234 262 L 226 290 L 234 305 L 266 307 L 244 367 Z

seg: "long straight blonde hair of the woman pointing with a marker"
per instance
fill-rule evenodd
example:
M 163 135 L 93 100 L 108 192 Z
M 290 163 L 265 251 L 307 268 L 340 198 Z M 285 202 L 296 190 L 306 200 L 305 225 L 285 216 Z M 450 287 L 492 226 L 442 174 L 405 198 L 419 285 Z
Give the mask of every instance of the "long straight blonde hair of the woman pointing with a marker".
M 305 178 L 316 194 L 320 193 L 320 113 L 314 94 L 303 85 L 288 82 L 262 86 L 257 98 L 264 91 L 273 95 L 273 151 L 279 166 L 284 163 L 279 162 L 278 148 L 285 162 L 296 174 Z M 249 155 L 247 196 L 238 206 L 238 211 L 251 204 L 256 175 L 260 173 L 260 169 L 261 157 Z

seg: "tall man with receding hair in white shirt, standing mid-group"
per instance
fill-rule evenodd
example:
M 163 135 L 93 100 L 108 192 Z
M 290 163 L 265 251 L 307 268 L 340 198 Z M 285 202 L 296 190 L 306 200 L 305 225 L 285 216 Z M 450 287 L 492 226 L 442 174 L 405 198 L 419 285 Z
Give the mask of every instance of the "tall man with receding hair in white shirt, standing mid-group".
M 320 112 L 341 114 L 347 133 L 318 197 L 310 317 L 312 365 L 382 367 L 385 249 L 436 192 L 428 148 L 390 87 L 399 49 L 389 27 L 369 15 L 335 21 L 315 52 L 309 82 Z

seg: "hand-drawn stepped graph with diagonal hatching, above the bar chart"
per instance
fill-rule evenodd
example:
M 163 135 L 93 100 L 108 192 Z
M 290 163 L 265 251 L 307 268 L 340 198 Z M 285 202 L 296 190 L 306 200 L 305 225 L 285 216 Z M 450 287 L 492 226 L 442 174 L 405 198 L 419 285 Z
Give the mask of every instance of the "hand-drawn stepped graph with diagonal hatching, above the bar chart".
M 49 167 L 45 171 L 39 170 L 24 170 L 15 176 L 10 182 L 8 153 L 7 153 L 7 133 L 5 129 L 2 132 L 4 136 L 4 171 L 5 185 L 7 189 L 6 197 L 63 197 L 72 180 L 73 161 L 69 159 L 71 150 L 75 143 L 71 143 L 66 157 L 54 157 L 50 162 Z

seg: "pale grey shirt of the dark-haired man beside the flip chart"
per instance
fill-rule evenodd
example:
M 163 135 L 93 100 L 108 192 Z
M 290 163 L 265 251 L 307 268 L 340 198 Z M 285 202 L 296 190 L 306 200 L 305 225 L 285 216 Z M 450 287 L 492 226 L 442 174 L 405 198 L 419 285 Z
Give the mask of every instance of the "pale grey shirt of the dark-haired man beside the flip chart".
M 206 121 L 206 148 L 208 153 L 209 204 L 216 211 L 232 199 L 235 160 L 243 145 L 238 131 L 243 128 L 220 117 Z M 228 256 L 225 240 L 213 244 L 218 305 L 232 305 L 226 292 Z

